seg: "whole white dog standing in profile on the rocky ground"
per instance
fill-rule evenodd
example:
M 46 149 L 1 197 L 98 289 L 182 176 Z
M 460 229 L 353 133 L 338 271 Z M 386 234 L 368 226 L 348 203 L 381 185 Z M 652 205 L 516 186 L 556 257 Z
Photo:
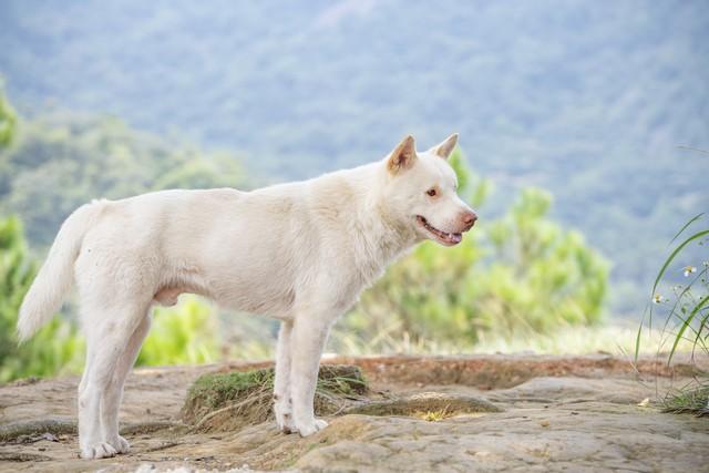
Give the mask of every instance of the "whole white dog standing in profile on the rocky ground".
M 475 214 L 456 195 L 452 135 L 417 154 L 253 192 L 164 191 L 100 200 L 62 225 L 22 307 L 27 339 L 79 287 L 86 367 L 79 385 L 81 456 L 129 451 L 119 435 L 123 383 L 154 304 L 198 294 L 281 320 L 274 390 L 284 432 L 310 435 L 318 363 L 335 320 L 419 241 L 461 241 Z

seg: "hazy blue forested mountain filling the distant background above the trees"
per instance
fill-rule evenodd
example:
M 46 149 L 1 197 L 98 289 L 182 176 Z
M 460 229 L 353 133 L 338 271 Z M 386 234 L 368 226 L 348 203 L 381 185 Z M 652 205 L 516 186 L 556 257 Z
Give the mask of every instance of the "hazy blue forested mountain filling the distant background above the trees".
M 615 261 L 619 311 L 709 208 L 709 155 L 678 148 L 709 147 L 703 0 L 6 0 L 0 44 L 23 114 L 177 130 L 270 181 L 458 131 L 497 202 L 554 193 L 556 216 Z

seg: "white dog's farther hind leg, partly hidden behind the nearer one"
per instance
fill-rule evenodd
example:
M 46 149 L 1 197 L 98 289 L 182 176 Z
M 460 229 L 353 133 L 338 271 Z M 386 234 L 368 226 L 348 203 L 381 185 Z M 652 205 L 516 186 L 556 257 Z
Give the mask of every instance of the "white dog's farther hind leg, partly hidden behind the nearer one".
M 135 364 L 135 359 L 150 328 L 151 317 L 146 311 L 131 336 L 125 350 L 121 353 L 109 387 L 101 398 L 102 440 L 113 446 L 117 453 L 127 453 L 131 450 L 127 440 L 119 434 L 119 410 L 121 409 L 121 400 L 123 399 L 125 379 L 131 372 L 133 364 Z

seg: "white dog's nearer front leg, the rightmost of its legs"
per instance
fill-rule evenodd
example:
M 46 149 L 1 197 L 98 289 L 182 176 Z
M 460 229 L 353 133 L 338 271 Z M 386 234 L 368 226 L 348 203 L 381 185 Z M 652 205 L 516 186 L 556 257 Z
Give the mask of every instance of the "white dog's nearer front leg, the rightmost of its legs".
M 299 316 L 294 321 L 290 337 L 290 399 L 294 429 L 308 436 L 328 425 L 315 418 L 314 401 L 318 366 L 333 317 L 326 313 Z

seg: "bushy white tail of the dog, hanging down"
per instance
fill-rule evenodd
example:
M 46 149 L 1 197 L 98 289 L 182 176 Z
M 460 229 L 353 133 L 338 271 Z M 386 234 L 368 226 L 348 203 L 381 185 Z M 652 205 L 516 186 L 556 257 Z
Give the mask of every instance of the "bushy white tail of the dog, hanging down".
M 105 200 L 83 205 L 64 220 L 30 290 L 24 296 L 18 319 L 20 342 L 30 338 L 60 308 L 74 279 L 74 261 L 84 235 L 91 228 Z

